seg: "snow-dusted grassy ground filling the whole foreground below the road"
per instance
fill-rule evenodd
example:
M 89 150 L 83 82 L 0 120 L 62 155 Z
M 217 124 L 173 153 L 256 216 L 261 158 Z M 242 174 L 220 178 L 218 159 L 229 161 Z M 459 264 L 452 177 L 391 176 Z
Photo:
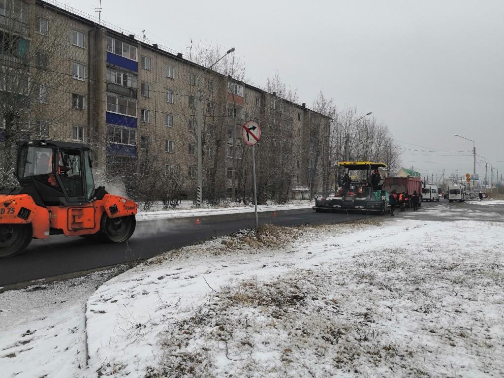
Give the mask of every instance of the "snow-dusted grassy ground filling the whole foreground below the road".
M 504 376 L 502 223 L 380 219 L 2 293 L 0 375 Z

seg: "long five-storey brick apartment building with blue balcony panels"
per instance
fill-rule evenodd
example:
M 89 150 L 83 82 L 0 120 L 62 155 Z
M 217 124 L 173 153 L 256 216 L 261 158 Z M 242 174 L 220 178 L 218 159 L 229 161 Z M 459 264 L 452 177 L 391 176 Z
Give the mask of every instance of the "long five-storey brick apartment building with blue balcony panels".
M 89 144 L 96 166 L 107 171 L 144 171 L 155 164 L 170 176 L 177 169 L 192 190 L 199 89 L 206 176 L 222 177 L 233 198 L 244 195 L 250 149 L 241 142 L 241 127 L 255 119 L 263 129 L 257 146 L 263 176 L 283 174 L 289 190 L 297 188 L 293 194 L 313 184 L 310 159 L 314 146 L 328 145 L 330 119 L 304 103 L 52 3 L 0 0 L 0 30 L 13 17 L 23 21 L 34 50 L 29 75 L 37 77 L 38 97 L 24 116 L 31 137 Z

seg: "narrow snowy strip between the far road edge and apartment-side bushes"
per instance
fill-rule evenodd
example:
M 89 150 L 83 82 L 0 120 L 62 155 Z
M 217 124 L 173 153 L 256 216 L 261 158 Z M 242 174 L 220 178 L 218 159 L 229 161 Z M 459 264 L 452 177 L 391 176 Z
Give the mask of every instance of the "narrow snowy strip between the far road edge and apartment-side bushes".
M 315 203 L 310 201 L 291 201 L 289 204 L 277 205 L 259 205 L 258 212 L 264 211 L 281 211 L 281 210 L 295 210 L 311 208 Z M 186 217 L 204 217 L 208 215 L 222 215 L 222 214 L 237 214 L 237 213 L 253 213 L 255 211 L 254 205 L 244 206 L 242 204 L 231 203 L 226 207 L 203 207 L 195 208 L 192 202 L 185 201 L 182 206 L 170 210 L 152 210 L 152 211 L 139 211 L 137 214 L 137 221 L 166 219 L 166 218 L 186 218 Z

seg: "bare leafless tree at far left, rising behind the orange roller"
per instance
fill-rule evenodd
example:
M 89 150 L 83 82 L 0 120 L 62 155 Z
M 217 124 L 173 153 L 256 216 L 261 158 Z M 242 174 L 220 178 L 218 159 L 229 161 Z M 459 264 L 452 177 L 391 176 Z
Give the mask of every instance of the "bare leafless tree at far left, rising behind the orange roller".
M 35 12 L 35 1 L 8 0 L 0 17 L 0 182 L 15 183 L 12 172 L 16 142 L 44 137 L 66 110 L 48 111 L 48 98 L 65 93 L 70 72 L 61 72 L 67 57 L 68 19 L 57 12 Z M 68 109 L 67 109 L 68 110 Z M 43 115 L 44 122 L 34 122 Z

